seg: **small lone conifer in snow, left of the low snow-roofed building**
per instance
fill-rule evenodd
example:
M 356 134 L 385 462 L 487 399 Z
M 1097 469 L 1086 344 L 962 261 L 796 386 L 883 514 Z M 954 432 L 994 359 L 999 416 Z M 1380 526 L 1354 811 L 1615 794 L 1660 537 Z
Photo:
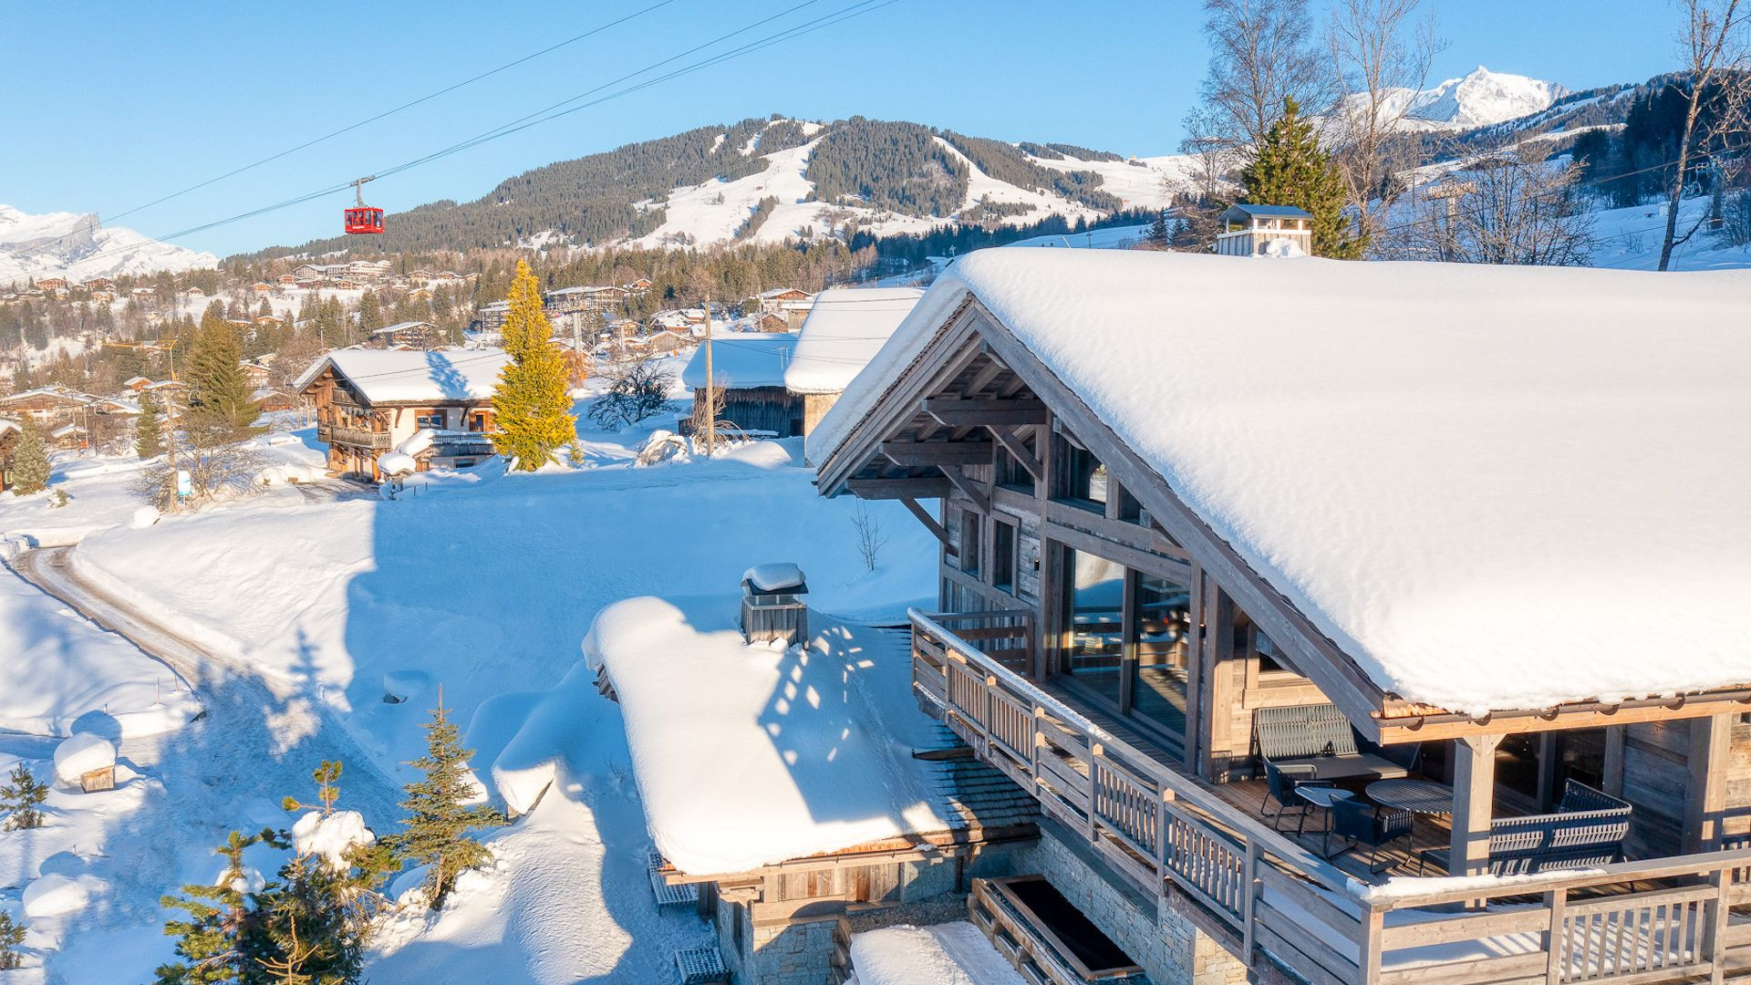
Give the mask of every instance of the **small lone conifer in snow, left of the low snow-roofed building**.
M 468 782 L 471 755 L 475 750 L 462 748 L 461 733 L 450 722 L 440 692 L 432 720 L 425 724 L 425 755 L 413 761 L 425 778 L 408 783 L 408 799 L 401 801 L 410 815 L 406 829 L 383 840 L 397 857 L 429 866 L 425 889 L 432 910 L 443 908 L 459 875 L 492 859 L 487 847 L 468 833 L 506 824 L 492 806 L 464 806 L 462 801 L 475 796 Z

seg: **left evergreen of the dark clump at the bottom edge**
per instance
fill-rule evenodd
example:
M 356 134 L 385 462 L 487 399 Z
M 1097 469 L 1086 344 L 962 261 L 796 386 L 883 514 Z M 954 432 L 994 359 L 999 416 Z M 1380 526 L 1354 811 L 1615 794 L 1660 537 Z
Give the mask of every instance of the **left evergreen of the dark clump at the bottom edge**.
M 182 897 L 166 896 L 159 903 L 182 910 L 186 920 L 166 920 L 165 934 L 177 938 L 177 957 L 161 964 L 156 985 L 221 985 L 261 980 L 263 931 L 256 899 L 247 892 L 243 852 L 254 845 L 285 847 L 273 831 L 243 836 L 236 831 L 215 854 L 226 861 L 224 875 L 214 885 L 191 883 Z

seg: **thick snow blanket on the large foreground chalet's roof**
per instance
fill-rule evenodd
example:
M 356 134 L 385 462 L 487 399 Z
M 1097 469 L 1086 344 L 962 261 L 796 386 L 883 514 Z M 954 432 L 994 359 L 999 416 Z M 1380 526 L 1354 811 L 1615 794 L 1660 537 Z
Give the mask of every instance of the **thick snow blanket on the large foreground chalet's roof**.
M 1751 272 L 979 251 L 811 461 L 968 294 L 1387 692 L 1751 682 Z

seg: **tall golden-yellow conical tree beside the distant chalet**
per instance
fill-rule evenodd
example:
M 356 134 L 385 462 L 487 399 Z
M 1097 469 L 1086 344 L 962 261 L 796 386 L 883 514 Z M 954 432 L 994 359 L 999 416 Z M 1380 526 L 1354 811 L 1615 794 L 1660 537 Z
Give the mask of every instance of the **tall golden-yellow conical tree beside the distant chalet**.
M 527 261 L 517 261 L 508 300 L 504 351 L 511 361 L 499 372 L 492 393 L 499 428 L 494 447 L 515 457 L 517 468 L 534 471 L 578 438 L 578 419 L 571 415 L 571 394 L 566 393 L 571 373 L 553 345 L 553 330 L 541 312 L 541 284 Z

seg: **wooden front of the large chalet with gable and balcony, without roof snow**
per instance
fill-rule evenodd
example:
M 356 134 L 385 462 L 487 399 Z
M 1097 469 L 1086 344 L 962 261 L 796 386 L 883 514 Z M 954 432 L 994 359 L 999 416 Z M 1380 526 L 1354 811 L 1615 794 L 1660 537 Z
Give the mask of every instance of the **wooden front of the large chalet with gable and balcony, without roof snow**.
M 823 494 L 898 500 L 939 542 L 946 615 L 912 617 L 921 705 L 1247 966 L 1459 983 L 1751 964 L 1751 929 L 1728 922 L 1751 850 L 1723 852 L 1751 815 L 1751 691 L 1483 717 L 1383 692 L 977 298 L 816 464 Z M 1252 775 L 1261 708 L 1324 703 L 1369 741 L 1422 745 L 1453 789 L 1453 875 L 1488 871 L 1497 808 L 1548 810 L 1564 778 L 1634 806 L 1630 861 L 1546 876 L 1532 904 L 1525 887 L 1357 894 L 1215 796 Z M 1471 910 L 1434 915 L 1453 904 Z M 1459 943 L 1488 957 L 1418 950 Z

